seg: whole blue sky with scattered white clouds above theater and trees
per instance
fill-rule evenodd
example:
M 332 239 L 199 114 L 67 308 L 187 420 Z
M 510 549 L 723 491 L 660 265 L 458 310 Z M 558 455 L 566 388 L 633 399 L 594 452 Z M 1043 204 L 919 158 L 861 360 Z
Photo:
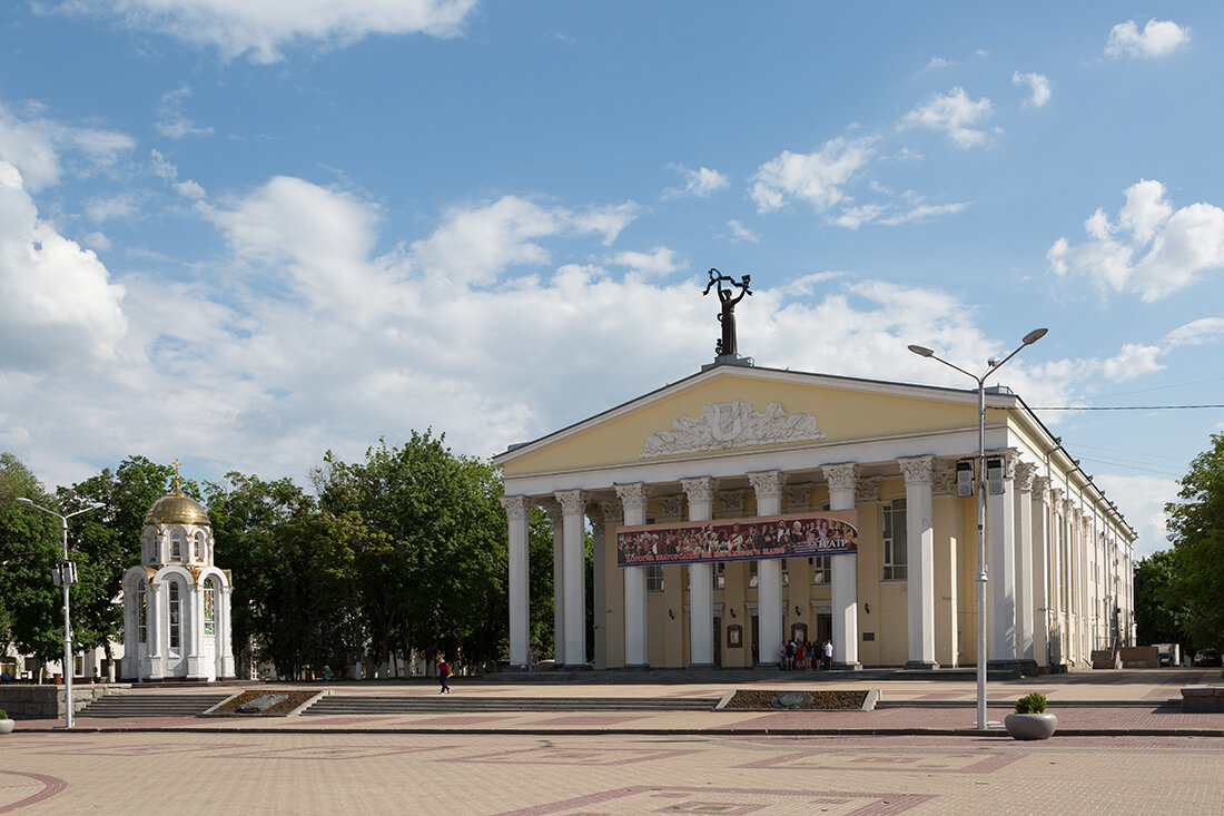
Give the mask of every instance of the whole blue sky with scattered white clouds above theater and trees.
M 1215 4 L 24 0 L 0 17 L 0 450 L 306 482 L 492 455 L 712 358 L 1224 403 Z M 1140 531 L 1224 429 L 1044 412 Z

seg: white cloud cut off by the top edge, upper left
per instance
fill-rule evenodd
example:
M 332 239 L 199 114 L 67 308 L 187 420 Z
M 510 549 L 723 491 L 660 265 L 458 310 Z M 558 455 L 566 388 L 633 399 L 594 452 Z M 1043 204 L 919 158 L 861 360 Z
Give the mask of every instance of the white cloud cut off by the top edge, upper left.
M 275 62 L 283 49 L 300 43 L 339 47 L 372 34 L 454 37 L 476 0 L 100 0 L 55 7 L 215 47 L 225 59 L 248 54 Z

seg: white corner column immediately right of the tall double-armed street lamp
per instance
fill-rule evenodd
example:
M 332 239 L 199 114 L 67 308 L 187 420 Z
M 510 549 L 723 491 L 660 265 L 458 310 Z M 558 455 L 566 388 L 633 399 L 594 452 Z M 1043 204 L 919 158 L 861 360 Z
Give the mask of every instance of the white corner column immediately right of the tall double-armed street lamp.
M 987 561 L 990 587 L 988 663 L 1016 662 L 1016 499 L 1013 450 L 991 451 L 1004 461 L 1004 493 L 987 496 Z

